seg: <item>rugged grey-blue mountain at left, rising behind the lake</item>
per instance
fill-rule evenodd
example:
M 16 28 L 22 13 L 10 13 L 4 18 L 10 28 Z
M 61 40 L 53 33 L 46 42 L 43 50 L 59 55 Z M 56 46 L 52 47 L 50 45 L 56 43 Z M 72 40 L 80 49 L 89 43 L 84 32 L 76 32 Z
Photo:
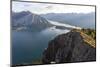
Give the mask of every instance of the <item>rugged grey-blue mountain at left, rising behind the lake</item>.
M 12 13 L 12 28 L 15 30 L 41 30 L 50 26 L 45 18 L 29 11 Z

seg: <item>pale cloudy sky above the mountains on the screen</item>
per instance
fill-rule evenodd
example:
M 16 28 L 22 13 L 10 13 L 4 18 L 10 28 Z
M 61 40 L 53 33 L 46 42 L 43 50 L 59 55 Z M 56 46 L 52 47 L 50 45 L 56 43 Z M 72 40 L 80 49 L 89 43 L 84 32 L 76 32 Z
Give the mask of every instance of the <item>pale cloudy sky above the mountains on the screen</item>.
M 36 14 L 47 13 L 90 13 L 95 12 L 95 7 L 79 5 L 62 5 L 30 2 L 12 2 L 12 11 L 30 11 Z

